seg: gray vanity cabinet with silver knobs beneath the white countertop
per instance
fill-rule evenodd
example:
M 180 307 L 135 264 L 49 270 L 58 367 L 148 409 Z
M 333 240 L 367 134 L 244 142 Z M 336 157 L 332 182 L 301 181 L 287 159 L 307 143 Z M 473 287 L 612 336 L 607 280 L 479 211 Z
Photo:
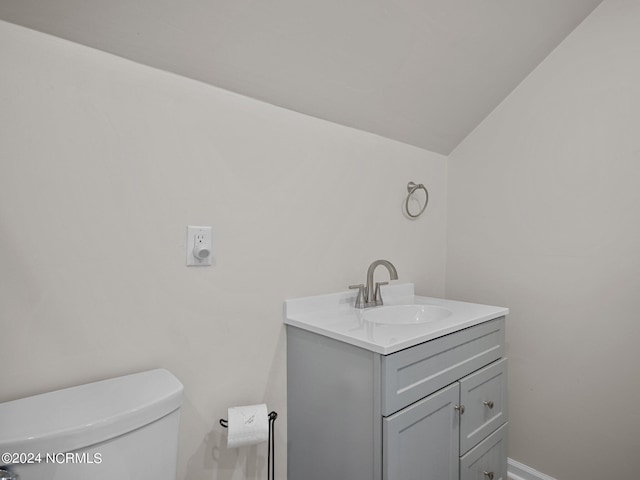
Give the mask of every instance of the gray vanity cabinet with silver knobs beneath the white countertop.
M 289 480 L 506 480 L 504 317 L 381 355 L 287 326 Z

